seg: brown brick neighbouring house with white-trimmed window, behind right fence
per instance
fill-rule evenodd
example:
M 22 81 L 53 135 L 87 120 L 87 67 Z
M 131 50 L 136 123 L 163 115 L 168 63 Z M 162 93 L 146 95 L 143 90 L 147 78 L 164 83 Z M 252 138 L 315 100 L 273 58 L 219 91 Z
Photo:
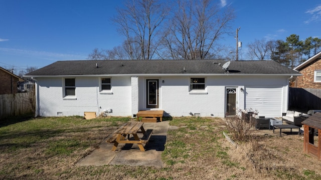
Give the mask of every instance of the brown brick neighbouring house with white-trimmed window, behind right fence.
M 302 76 L 297 76 L 293 87 L 321 89 L 321 51 L 294 67 Z

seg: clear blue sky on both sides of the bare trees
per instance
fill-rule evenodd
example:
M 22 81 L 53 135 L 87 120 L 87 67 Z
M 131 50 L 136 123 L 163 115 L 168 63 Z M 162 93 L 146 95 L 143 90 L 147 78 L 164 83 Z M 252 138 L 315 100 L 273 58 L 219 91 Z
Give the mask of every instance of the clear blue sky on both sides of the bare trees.
M 319 0 L 217 0 L 235 9 L 240 53 L 255 39 L 321 38 Z M 57 60 L 86 59 L 97 48 L 120 45 L 110 18 L 121 0 L 0 0 L 0 66 L 38 68 Z M 235 35 L 224 43 L 236 46 Z

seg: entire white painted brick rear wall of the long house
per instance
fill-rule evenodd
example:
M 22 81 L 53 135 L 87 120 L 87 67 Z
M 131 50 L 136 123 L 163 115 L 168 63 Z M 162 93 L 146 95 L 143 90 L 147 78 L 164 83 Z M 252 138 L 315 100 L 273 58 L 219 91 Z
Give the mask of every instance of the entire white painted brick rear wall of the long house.
M 132 116 L 138 110 L 146 109 L 146 78 L 159 79 L 159 109 L 172 116 L 190 116 L 189 112 L 192 112 L 201 113 L 201 116 L 224 117 L 226 87 L 237 89 L 237 106 L 243 109 L 246 95 L 239 89 L 253 85 L 283 86 L 283 104 L 279 106 L 282 111 L 287 108 L 286 76 L 205 77 L 206 94 L 189 93 L 189 76 L 111 77 L 112 94 L 99 93 L 99 77 L 76 77 L 76 100 L 63 99 L 62 77 L 48 77 L 38 78 L 39 113 L 42 116 L 57 116 L 57 112 L 63 112 L 63 115 L 84 115 L 85 111 L 99 114 L 103 109 L 110 108 L 112 113 L 109 115 Z

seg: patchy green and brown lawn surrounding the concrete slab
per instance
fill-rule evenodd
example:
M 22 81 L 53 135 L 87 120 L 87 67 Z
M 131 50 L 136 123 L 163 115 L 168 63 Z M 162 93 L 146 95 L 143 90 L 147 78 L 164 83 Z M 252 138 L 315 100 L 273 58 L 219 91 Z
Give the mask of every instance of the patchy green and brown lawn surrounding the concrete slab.
M 162 153 L 163 168 L 126 165 L 78 166 L 130 117 L 13 118 L 0 121 L 0 179 L 309 179 L 315 169 L 255 174 L 247 159 L 222 135 L 220 118 L 173 117 Z M 164 118 L 166 120 L 166 118 Z M 308 172 L 308 173 L 307 173 Z M 284 175 L 285 174 L 285 175 Z

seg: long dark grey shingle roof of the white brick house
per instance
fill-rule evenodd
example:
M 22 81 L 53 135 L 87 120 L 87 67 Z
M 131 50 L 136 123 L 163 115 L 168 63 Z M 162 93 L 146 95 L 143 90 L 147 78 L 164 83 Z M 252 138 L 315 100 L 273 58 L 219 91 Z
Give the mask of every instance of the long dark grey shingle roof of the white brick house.
M 213 64 L 213 62 L 217 62 Z M 57 61 L 26 76 L 94 75 L 94 74 L 183 74 L 226 73 L 218 63 L 224 60 L 68 60 Z M 96 67 L 96 63 L 98 67 Z M 185 69 L 185 70 L 184 70 Z M 272 60 L 231 61 L 229 73 L 297 74 Z

